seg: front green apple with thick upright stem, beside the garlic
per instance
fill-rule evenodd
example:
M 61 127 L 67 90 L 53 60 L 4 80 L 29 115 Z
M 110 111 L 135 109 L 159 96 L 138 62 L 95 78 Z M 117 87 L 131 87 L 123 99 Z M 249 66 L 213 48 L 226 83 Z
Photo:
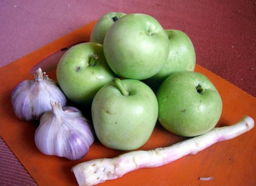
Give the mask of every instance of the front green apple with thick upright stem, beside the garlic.
M 157 121 L 153 91 L 135 79 L 114 79 L 93 99 L 93 127 L 106 147 L 132 150 L 148 141 Z

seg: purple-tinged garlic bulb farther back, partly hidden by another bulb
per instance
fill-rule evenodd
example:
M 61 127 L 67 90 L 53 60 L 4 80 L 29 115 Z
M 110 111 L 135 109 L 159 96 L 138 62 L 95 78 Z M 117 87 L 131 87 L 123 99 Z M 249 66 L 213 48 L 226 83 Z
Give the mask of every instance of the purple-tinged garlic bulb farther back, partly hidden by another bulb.
M 67 103 L 55 81 L 49 79 L 41 68 L 36 70 L 34 80 L 20 82 L 11 96 L 15 115 L 25 121 L 39 120 L 44 112 L 51 110 L 50 100 L 61 102 L 63 107 Z

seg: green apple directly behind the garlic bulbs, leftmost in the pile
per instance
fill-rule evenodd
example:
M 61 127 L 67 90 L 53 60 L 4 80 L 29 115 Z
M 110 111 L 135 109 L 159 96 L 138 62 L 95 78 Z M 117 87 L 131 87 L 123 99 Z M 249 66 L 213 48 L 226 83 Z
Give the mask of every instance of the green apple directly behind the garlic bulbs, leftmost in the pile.
M 99 43 L 81 43 L 61 57 L 56 71 L 64 94 L 77 104 L 90 104 L 97 91 L 114 78 Z

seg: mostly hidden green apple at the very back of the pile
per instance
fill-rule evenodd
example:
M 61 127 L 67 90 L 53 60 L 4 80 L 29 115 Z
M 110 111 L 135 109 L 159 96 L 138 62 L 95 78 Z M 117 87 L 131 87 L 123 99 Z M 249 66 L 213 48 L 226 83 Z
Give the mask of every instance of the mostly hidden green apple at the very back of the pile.
M 103 15 L 96 23 L 90 36 L 90 42 L 98 42 L 103 44 L 104 37 L 108 29 L 115 23 L 120 17 L 123 17 L 122 12 L 108 12 Z

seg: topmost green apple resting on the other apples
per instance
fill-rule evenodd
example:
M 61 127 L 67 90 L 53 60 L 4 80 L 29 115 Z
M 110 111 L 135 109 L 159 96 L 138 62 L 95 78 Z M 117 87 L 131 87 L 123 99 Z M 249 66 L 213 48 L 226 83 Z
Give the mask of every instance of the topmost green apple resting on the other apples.
M 108 65 L 117 75 L 147 79 L 166 63 L 169 39 L 153 17 L 127 14 L 108 30 L 103 50 Z

